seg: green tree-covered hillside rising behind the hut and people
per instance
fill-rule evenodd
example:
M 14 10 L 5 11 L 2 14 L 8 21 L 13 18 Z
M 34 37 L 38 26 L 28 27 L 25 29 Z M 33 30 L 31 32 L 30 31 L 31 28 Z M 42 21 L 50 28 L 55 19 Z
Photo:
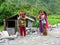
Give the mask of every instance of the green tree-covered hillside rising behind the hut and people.
M 0 24 L 2 20 L 23 10 L 33 16 L 39 10 L 47 14 L 60 14 L 60 0 L 0 0 Z

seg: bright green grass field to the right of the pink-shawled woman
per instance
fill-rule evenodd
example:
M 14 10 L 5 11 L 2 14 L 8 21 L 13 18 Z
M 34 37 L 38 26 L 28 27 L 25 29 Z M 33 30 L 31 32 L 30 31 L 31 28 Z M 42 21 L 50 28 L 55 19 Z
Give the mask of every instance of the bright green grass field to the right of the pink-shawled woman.
M 60 15 L 49 15 L 48 21 L 49 21 L 49 24 L 51 25 L 60 23 Z

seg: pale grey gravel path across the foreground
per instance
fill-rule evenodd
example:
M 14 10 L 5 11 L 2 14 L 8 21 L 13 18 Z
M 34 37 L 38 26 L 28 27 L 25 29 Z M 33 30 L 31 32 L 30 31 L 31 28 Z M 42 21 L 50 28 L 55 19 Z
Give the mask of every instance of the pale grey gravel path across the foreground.
M 18 37 L 15 40 L 1 40 L 0 45 L 60 45 L 60 28 L 53 28 L 48 31 L 47 36 L 41 36 L 37 32 Z

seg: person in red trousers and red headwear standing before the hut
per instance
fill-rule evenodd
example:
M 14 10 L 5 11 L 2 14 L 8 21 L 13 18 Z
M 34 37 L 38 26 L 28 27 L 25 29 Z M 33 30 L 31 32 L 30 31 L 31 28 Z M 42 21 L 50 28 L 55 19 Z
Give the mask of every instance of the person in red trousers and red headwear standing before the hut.
M 20 25 L 19 25 L 20 36 L 23 36 L 23 33 L 24 33 L 24 36 L 26 36 L 26 28 L 25 28 L 26 18 L 25 18 L 25 13 L 23 11 L 20 12 L 19 19 L 20 19 Z

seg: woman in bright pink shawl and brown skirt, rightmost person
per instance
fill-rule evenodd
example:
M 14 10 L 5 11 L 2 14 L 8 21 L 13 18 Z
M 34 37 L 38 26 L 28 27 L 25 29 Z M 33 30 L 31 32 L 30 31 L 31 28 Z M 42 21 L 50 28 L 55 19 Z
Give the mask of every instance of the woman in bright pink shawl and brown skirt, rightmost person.
M 47 16 L 44 11 L 42 12 L 41 20 L 42 20 L 42 27 L 43 27 L 43 35 L 47 35 Z

